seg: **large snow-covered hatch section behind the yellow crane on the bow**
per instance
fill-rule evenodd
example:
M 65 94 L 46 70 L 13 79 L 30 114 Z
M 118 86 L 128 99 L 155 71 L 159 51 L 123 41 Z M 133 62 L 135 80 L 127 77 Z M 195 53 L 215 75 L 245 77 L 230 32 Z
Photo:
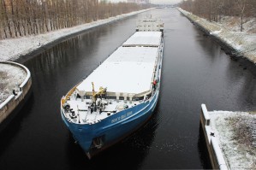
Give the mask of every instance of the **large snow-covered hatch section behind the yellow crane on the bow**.
M 92 91 L 93 82 L 95 91 L 100 86 L 110 92 L 150 91 L 157 56 L 158 48 L 154 47 L 119 47 L 77 90 Z

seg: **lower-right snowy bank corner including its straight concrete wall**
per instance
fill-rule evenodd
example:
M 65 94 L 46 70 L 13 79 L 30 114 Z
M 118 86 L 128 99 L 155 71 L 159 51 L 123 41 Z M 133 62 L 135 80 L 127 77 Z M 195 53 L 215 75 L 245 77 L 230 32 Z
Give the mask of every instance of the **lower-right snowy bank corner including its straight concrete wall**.
M 212 168 L 256 168 L 255 112 L 208 111 L 202 104 L 200 123 Z

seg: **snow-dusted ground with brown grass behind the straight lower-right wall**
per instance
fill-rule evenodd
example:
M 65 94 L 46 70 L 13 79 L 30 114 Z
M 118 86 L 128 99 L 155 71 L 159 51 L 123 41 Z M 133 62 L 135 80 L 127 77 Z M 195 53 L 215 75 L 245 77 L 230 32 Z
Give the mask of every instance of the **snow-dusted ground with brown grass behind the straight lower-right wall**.
M 256 169 L 256 113 L 208 113 L 229 169 Z

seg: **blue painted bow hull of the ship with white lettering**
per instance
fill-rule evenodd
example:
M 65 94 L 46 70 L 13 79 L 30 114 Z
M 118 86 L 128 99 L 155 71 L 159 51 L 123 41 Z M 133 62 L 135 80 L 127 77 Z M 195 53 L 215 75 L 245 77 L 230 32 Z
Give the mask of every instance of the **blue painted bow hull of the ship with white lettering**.
M 74 139 L 84 149 L 86 155 L 91 158 L 92 155 L 110 147 L 112 144 L 116 144 L 116 142 L 128 137 L 129 134 L 143 126 L 156 108 L 158 95 L 159 90 L 155 91 L 151 101 L 125 109 L 92 125 L 79 125 L 69 122 L 63 115 L 63 109 L 61 109 L 62 118 Z M 92 147 L 95 138 L 100 138 L 102 142 L 100 148 Z

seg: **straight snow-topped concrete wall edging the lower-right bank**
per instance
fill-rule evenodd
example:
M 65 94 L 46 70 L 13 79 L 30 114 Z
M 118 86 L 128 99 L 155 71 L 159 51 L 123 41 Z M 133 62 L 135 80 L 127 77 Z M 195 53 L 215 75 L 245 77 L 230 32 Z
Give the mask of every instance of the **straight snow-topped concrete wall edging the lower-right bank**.
M 217 142 L 215 132 L 212 131 L 210 123 L 211 117 L 205 104 L 201 105 L 200 123 L 205 136 L 205 143 L 211 160 L 212 169 L 226 170 L 229 169 L 224 157 L 223 152 Z

